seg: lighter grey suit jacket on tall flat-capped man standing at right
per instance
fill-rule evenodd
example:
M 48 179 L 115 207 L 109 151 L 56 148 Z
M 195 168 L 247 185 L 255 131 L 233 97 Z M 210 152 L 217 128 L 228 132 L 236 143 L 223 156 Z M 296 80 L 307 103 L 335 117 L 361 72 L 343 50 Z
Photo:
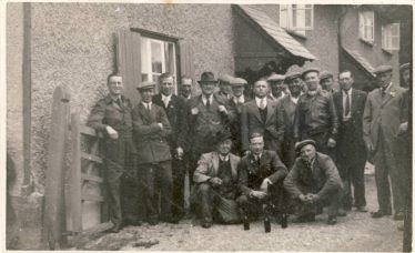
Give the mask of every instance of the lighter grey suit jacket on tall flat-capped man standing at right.
M 399 125 L 407 119 L 406 108 L 405 89 L 398 85 L 391 84 L 384 98 L 381 89 L 368 93 L 363 113 L 363 138 L 366 145 L 371 143 L 376 150 L 382 129 L 386 144 L 393 149 Z

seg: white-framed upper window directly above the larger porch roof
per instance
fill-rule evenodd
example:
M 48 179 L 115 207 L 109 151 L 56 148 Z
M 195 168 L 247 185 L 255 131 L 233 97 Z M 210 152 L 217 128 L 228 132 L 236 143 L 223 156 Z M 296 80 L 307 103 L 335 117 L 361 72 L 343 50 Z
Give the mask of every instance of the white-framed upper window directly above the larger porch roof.
M 305 36 L 313 29 L 313 4 L 280 4 L 280 27 Z

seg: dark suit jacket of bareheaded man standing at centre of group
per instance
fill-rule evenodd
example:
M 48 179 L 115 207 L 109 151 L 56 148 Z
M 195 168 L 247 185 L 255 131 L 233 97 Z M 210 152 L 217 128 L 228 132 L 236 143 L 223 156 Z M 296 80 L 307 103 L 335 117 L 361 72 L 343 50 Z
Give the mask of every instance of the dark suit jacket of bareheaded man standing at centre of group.
M 249 150 L 250 135 L 253 132 L 259 132 L 264 135 L 265 145 L 267 142 L 270 146 L 280 146 L 284 139 L 284 120 L 281 110 L 277 109 L 276 102 L 266 100 L 266 120 L 262 121 L 260 110 L 256 101 L 252 100 L 245 103 L 241 112 L 241 134 L 242 134 L 242 149 Z

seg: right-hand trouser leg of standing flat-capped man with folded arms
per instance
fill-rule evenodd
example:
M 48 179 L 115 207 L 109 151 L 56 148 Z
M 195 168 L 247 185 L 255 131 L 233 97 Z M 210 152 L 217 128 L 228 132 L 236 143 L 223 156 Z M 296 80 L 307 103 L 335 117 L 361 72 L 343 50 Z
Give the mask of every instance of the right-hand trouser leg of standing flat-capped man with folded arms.
M 160 162 L 158 164 L 158 182 L 161 195 L 161 219 L 169 220 L 172 216 L 172 190 L 173 176 L 171 161 Z

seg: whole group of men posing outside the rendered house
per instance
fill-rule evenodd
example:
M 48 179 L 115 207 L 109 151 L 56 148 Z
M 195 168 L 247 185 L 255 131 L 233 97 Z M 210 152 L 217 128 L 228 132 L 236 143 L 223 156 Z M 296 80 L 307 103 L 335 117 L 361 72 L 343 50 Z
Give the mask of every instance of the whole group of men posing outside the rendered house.
M 151 225 L 179 222 L 186 213 L 186 173 L 191 211 L 203 227 L 256 219 L 263 206 L 273 206 L 277 221 L 292 212 L 295 221 L 310 222 L 328 205 L 327 223 L 335 224 L 352 206 L 367 212 L 366 151 L 375 161 L 379 202 L 372 216 L 392 212 L 389 174 L 394 219 L 401 220 L 395 156 L 397 134 L 406 131 L 407 91 L 392 83 L 391 67 L 375 74 L 379 89 L 368 95 L 353 89 L 351 71 L 340 72 L 341 90 L 334 91 L 333 74 L 318 69 L 272 73 L 247 94 L 244 79 L 204 72 L 202 93 L 193 97 L 191 78 L 181 78 L 176 95 L 174 77 L 163 73 L 159 94 L 156 83 L 140 83 L 134 108 L 121 94 L 122 77 L 110 74 L 109 94 L 89 125 L 104 133 L 111 231 L 144 219 Z

